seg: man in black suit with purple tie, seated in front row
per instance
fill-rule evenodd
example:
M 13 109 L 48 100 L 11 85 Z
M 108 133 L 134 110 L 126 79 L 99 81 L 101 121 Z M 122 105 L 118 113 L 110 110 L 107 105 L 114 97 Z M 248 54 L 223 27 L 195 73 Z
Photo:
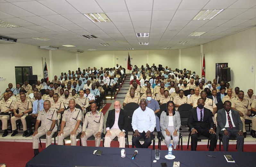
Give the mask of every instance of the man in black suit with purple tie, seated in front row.
M 197 138 L 203 135 L 210 139 L 209 151 L 214 151 L 216 133 L 213 130 L 212 112 L 204 108 L 204 99 L 197 100 L 197 107 L 190 110 L 188 126 L 191 130 L 191 151 L 196 151 Z

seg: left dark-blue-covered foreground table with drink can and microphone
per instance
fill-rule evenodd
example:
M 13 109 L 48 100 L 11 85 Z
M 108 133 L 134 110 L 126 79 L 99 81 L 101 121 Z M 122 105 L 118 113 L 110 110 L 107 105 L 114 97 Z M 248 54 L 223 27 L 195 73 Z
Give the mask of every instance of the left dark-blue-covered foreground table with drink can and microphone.
M 122 148 L 81 147 L 50 145 L 35 158 L 31 159 L 26 167 L 150 167 L 151 149 L 125 148 L 126 157 L 121 157 Z M 93 155 L 94 150 L 102 150 L 102 156 Z M 138 154 L 134 160 L 134 150 Z M 155 154 L 154 154 L 155 155 Z

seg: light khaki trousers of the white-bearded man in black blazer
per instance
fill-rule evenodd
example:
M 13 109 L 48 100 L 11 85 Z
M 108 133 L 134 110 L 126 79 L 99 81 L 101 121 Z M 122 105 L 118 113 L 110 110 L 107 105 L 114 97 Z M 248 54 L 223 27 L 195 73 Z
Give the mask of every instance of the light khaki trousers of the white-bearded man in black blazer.
M 119 148 L 125 148 L 125 138 L 119 136 L 120 132 L 122 132 L 120 129 L 110 130 L 111 136 L 105 137 L 104 147 L 110 147 L 111 141 L 115 138 L 115 136 L 117 136 Z

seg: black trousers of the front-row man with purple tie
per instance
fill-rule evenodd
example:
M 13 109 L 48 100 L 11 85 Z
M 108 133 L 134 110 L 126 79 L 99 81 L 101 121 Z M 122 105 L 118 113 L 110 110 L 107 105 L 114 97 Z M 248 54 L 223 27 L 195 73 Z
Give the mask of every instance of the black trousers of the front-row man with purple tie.
M 208 137 L 210 139 L 210 147 L 209 151 L 214 151 L 215 145 L 216 145 L 216 134 L 209 133 L 210 129 L 206 128 L 198 128 L 196 129 L 198 133 L 191 134 L 191 151 L 196 151 L 197 147 L 197 138 L 200 135 L 203 135 L 205 137 Z

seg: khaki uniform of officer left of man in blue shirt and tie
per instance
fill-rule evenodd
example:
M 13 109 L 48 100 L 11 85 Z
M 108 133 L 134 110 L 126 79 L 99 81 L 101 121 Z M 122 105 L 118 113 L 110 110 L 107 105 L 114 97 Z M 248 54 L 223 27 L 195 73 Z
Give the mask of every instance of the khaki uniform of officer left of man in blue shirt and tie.
M 25 112 L 26 110 L 29 110 L 29 109 L 32 109 L 33 106 L 32 106 L 32 103 L 31 101 L 29 100 L 25 100 L 24 102 L 17 102 L 14 106 L 14 109 L 18 110 L 19 109 L 19 112 L 17 112 L 17 114 L 20 114 L 22 112 Z M 17 125 L 16 125 L 16 120 L 21 120 L 21 123 L 22 123 L 22 126 L 23 126 L 23 131 L 27 130 L 27 123 L 26 123 L 26 117 L 28 116 L 29 114 L 26 113 L 26 114 L 23 114 L 21 117 L 15 117 L 13 116 L 11 118 L 11 124 L 12 124 L 12 130 L 16 130 L 17 129 Z

